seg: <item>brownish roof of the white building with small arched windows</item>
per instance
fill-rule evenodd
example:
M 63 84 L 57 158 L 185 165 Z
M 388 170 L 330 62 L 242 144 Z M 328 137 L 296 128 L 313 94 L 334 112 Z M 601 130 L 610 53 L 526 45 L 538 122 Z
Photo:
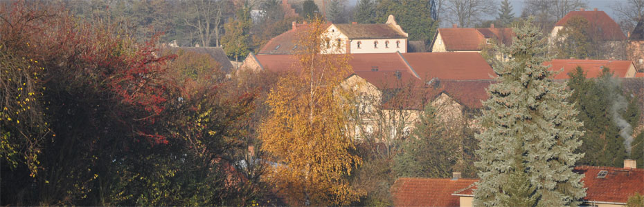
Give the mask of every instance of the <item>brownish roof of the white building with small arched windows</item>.
M 349 39 L 407 38 L 389 23 L 336 23 L 334 26 Z

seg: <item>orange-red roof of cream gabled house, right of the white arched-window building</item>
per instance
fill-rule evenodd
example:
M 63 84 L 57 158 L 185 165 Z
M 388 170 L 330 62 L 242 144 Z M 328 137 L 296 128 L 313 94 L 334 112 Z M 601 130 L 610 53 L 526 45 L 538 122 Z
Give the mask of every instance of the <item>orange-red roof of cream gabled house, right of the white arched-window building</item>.
M 510 46 L 514 32 L 511 28 L 438 28 L 437 34 L 448 51 L 477 51 L 487 43 L 486 39 Z M 434 43 L 431 44 L 430 48 Z

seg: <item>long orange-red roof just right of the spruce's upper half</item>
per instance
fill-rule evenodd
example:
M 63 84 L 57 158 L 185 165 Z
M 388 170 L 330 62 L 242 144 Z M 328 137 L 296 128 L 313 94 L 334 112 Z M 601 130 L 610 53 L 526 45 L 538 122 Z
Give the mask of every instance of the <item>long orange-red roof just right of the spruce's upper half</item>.
M 615 61 L 615 60 L 595 60 L 595 59 L 553 59 L 552 61 L 544 62 L 544 65 L 551 65 L 549 70 L 559 71 L 564 69 L 559 74 L 555 75 L 555 79 L 568 79 L 569 73 L 574 72 L 577 66 L 581 66 L 586 72 L 587 78 L 596 78 L 602 74 L 603 67 L 610 68 L 615 77 L 625 77 L 626 72 L 632 66 L 632 61 Z

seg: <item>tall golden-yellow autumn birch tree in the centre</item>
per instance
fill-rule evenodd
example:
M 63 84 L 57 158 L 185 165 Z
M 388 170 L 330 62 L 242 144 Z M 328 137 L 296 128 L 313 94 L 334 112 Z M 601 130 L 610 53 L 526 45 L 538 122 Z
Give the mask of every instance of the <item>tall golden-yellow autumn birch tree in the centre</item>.
M 361 164 L 348 130 L 354 95 L 340 87 L 351 69 L 347 55 L 320 55 L 327 26 L 317 20 L 301 32 L 297 70 L 271 90 L 271 114 L 260 128 L 262 150 L 276 162 L 269 179 L 294 206 L 348 205 L 364 194 L 347 180 Z

